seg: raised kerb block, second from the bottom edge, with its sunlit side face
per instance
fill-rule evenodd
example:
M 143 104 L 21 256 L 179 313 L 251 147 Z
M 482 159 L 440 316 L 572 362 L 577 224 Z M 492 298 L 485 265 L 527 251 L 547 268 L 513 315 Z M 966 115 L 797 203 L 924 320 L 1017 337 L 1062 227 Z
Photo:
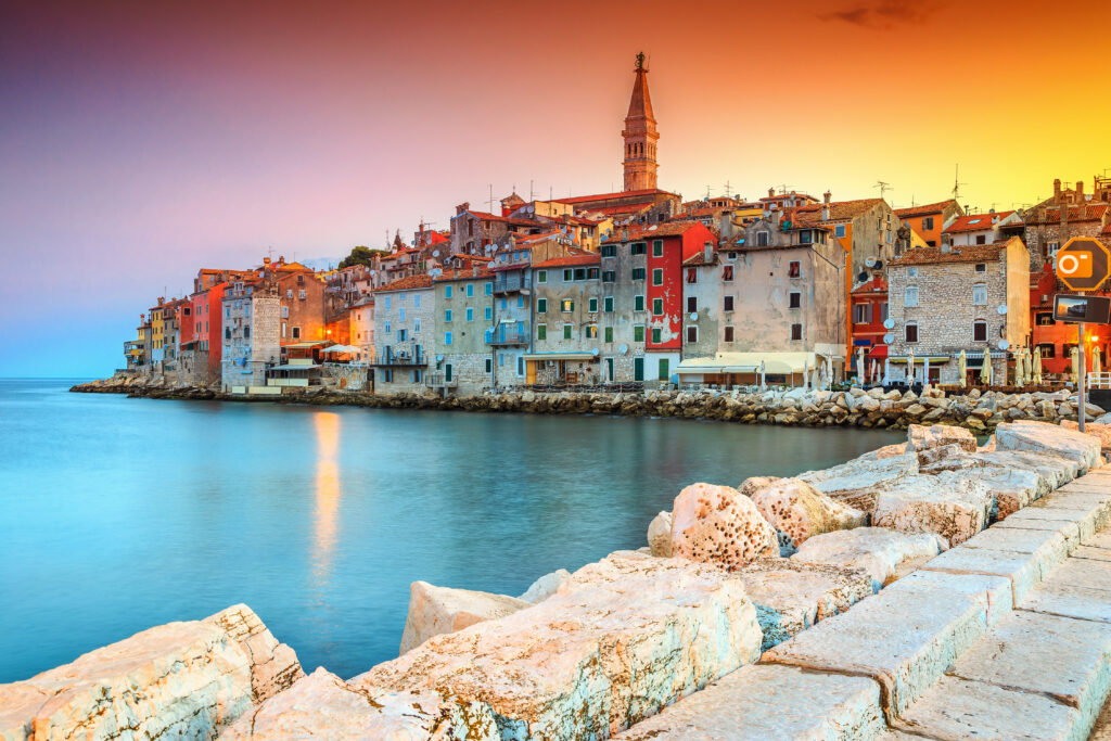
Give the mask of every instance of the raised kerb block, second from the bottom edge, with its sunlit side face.
M 969 589 L 954 588 L 961 580 Z M 989 631 L 1010 601 L 1003 579 L 950 577 L 895 582 L 763 655 L 764 662 L 871 677 L 888 717 L 901 714 Z

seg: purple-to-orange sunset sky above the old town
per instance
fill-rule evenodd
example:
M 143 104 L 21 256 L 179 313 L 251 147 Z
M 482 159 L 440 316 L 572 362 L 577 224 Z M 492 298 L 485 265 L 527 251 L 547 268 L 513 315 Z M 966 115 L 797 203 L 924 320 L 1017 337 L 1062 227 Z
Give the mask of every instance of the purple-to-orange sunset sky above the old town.
M 0 0 L 0 377 L 94 377 L 159 296 L 454 206 L 660 187 L 1010 209 L 1111 167 L 1111 4 Z

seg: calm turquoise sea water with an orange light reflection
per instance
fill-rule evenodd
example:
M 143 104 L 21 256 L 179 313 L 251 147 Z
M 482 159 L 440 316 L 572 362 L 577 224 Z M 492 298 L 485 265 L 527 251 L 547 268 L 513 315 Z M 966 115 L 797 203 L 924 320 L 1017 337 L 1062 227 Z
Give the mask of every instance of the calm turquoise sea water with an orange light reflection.
M 246 602 L 307 670 L 397 655 L 410 582 L 519 594 L 695 481 L 894 433 L 154 401 L 0 380 L 0 682 Z

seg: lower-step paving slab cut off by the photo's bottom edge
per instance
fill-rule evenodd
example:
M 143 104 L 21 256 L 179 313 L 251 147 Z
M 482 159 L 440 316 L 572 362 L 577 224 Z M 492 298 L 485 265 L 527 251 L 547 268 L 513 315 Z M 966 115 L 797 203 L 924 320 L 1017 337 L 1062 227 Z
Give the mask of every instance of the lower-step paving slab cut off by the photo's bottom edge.
M 1080 712 L 1055 700 L 943 677 L 898 724 L 930 739 L 1082 741 Z

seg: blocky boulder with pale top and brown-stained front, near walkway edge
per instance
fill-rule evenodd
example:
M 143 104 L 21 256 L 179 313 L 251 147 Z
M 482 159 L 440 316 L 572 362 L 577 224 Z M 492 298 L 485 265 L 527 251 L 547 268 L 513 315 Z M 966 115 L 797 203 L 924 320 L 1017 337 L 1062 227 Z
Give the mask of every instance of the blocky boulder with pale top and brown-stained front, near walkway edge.
M 987 484 L 952 472 L 915 475 L 880 492 L 872 521 L 900 532 L 932 532 L 962 543 L 988 523 L 993 498 Z

